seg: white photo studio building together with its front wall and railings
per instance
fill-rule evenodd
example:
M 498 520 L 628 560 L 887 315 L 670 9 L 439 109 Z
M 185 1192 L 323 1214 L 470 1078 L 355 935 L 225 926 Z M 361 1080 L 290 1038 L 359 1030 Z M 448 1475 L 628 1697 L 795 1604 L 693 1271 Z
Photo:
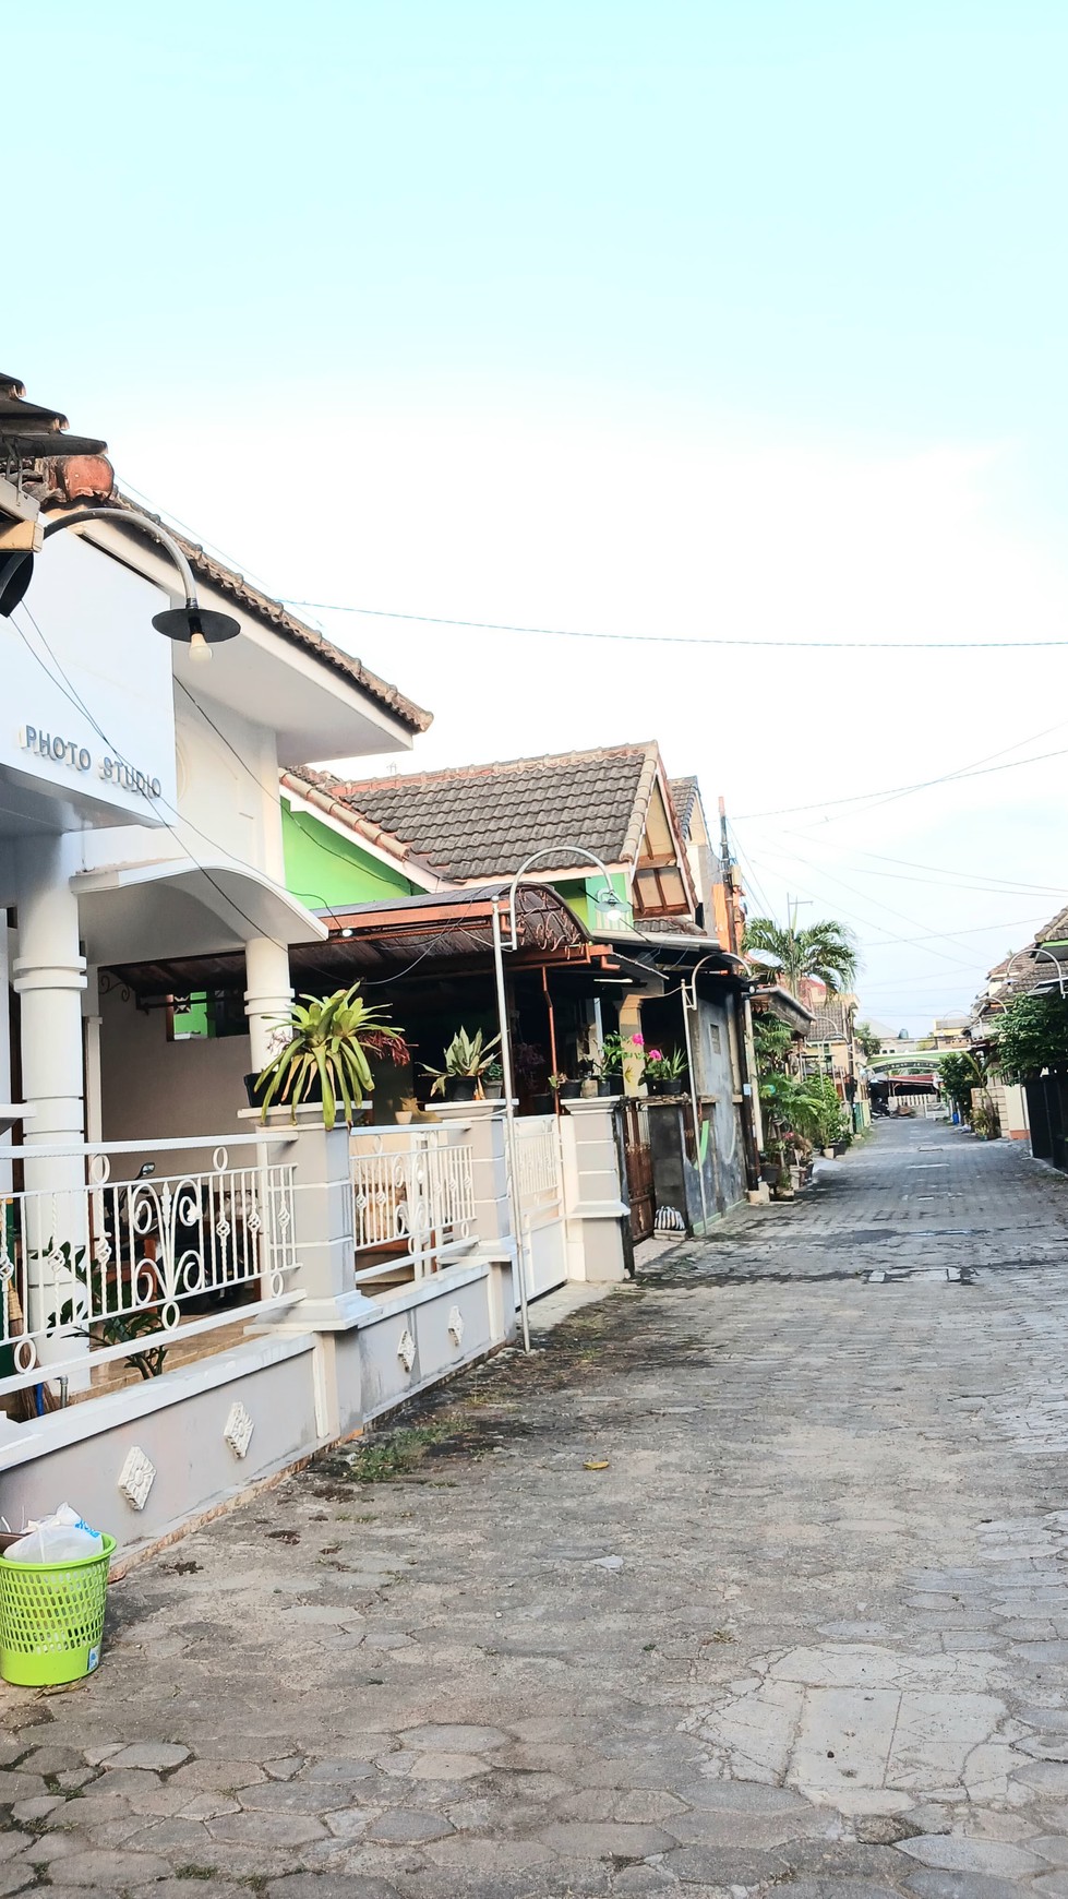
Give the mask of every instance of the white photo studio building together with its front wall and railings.
M 279 773 L 429 714 L 61 423 L 0 378 L 0 1512 L 70 1496 L 129 1548 L 514 1335 L 544 1227 L 620 1278 L 626 1208 L 601 1101 L 522 1156 L 501 1103 L 353 1136 L 247 1109 L 290 946 L 326 936 Z M 184 1037 L 173 965 L 235 951 L 243 1014 Z M 114 972 L 156 961 L 146 1006 Z

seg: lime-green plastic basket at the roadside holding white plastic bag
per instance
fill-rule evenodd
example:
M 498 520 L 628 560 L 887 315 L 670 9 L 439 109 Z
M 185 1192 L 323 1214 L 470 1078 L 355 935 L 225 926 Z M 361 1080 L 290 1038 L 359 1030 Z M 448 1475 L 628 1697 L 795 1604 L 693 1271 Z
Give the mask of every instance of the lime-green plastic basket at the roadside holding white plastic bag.
M 101 1555 L 74 1563 L 9 1563 L 0 1555 L 0 1675 L 21 1688 L 53 1688 L 91 1675 L 101 1660 L 108 1565 Z

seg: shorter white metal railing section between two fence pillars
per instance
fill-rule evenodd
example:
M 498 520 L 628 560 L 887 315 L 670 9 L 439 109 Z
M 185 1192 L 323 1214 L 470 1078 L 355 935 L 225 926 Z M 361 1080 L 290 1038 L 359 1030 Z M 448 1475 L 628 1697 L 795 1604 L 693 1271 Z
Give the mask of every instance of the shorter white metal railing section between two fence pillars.
M 450 1128 L 353 1134 L 357 1286 L 425 1278 L 476 1244 L 470 1145 Z

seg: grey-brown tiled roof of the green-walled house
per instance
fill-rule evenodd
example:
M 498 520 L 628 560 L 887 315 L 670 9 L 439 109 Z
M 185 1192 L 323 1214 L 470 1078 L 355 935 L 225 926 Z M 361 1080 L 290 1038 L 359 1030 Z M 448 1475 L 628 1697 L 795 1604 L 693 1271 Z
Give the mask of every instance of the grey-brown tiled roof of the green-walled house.
M 656 744 L 514 758 L 451 771 L 341 780 L 302 767 L 298 779 L 351 805 L 377 834 L 417 853 L 440 875 L 510 875 L 535 851 L 537 875 L 584 870 L 582 845 L 605 864 L 634 862 L 656 779 Z M 592 864 L 588 866 L 594 868 Z

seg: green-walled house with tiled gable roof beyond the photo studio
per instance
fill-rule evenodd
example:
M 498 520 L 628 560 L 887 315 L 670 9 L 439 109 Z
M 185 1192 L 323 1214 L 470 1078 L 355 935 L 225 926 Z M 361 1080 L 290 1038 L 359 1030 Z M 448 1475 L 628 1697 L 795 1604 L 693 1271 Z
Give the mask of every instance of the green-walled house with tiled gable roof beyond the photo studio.
M 651 1120 L 628 1067 L 632 1189 L 639 1174 L 656 1175 L 653 1198 L 689 1225 L 746 1193 L 757 1158 L 746 970 L 725 946 L 723 872 L 700 788 L 670 780 L 654 743 L 355 780 L 300 767 L 283 773 L 281 796 L 290 889 L 311 908 L 319 891 L 321 913 L 328 904 L 328 925 L 347 938 L 364 927 L 359 906 L 389 887 L 404 906 L 415 893 L 506 896 L 516 877 L 552 885 L 590 948 L 582 965 L 573 951 L 548 957 L 537 982 L 522 961 L 508 965 L 520 1109 L 537 1109 L 550 1069 L 575 1077 L 605 1037 L 643 1035 L 692 1062 L 694 1086 L 683 1077 L 675 1105 Z M 721 921 L 709 929 L 717 889 Z M 421 1060 L 438 1060 L 459 1022 L 493 1025 L 489 974 L 488 946 L 470 942 L 450 991 L 431 987 L 425 968 L 398 976 L 396 1014 Z M 685 984 L 696 1008 L 683 1008 Z

